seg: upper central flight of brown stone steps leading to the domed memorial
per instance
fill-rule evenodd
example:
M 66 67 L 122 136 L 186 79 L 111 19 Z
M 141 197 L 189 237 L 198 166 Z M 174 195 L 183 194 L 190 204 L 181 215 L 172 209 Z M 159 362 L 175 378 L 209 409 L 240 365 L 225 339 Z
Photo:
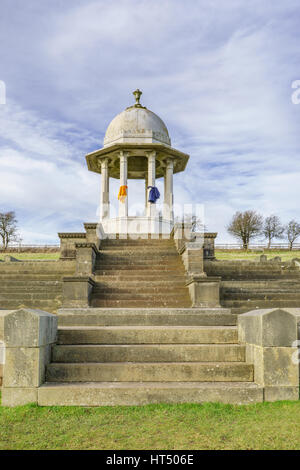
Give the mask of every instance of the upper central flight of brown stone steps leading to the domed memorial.
M 92 307 L 190 307 L 174 241 L 105 240 L 95 266 Z

